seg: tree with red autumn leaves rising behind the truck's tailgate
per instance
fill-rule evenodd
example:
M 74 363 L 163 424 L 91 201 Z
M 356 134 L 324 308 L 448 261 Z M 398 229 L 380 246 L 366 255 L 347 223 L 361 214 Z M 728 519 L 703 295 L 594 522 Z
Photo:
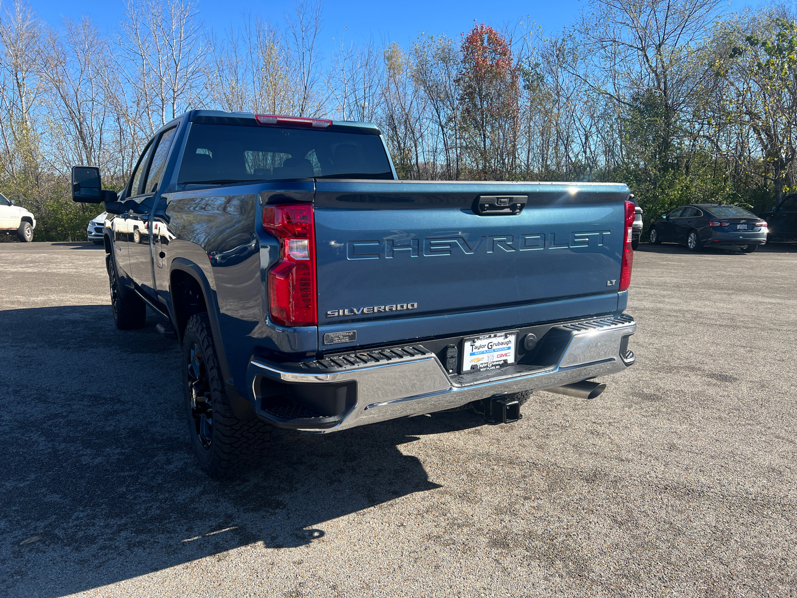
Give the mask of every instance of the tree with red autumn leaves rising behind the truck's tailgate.
M 474 25 L 462 40 L 457 84 L 478 179 L 504 179 L 515 170 L 519 80 L 506 38 Z

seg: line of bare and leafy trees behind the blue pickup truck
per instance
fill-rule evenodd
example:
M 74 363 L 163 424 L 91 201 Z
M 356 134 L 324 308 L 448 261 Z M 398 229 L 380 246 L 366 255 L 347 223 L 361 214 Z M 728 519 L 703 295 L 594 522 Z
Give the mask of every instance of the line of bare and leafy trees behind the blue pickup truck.
M 422 25 L 422 23 L 421 23 Z M 321 6 L 214 32 L 194 0 L 128 0 L 115 31 L 0 13 L 0 191 L 37 240 L 84 238 L 69 168 L 121 188 L 152 132 L 190 108 L 379 124 L 402 178 L 627 183 L 646 221 L 683 203 L 763 211 L 797 191 L 795 7 L 589 0 L 560 33 L 474 23 L 459 39 L 347 43 Z

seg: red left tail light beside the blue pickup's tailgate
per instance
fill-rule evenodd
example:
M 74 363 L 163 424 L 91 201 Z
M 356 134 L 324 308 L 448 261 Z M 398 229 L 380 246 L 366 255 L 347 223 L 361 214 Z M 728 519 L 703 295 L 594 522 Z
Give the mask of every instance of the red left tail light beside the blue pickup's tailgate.
M 268 206 L 263 226 L 280 242 L 280 261 L 269 272 L 269 313 L 283 326 L 315 326 L 316 227 L 312 205 Z

